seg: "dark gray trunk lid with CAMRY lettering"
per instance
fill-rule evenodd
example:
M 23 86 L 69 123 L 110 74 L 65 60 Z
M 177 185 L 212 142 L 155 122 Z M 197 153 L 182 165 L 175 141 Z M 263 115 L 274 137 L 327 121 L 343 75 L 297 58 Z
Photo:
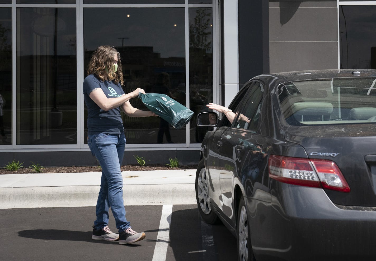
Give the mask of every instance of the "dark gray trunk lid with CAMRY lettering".
M 297 143 L 308 158 L 334 161 L 350 192 L 325 189 L 338 205 L 376 207 L 376 125 L 291 126 L 285 138 Z

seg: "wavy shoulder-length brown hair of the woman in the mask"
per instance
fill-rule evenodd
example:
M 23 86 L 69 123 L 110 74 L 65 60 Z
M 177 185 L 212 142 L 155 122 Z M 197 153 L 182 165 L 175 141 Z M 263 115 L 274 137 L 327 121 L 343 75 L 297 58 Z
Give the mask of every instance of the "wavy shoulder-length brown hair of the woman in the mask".
M 114 71 L 114 54 L 117 54 L 118 58 L 118 69 L 116 72 Z M 108 79 L 115 84 L 120 83 L 121 85 L 124 85 L 120 53 L 112 46 L 102 45 L 98 47 L 91 56 L 86 72 L 88 75 L 96 74 L 102 81 L 104 81 L 107 76 Z

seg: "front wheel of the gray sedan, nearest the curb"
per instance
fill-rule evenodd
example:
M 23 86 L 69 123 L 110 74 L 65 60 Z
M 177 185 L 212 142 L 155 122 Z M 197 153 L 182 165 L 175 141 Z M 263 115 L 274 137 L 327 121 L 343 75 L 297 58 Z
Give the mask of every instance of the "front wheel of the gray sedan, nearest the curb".
M 200 160 L 196 172 L 196 201 L 202 219 L 209 224 L 217 223 L 218 216 L 209 204 L 209 179 L 206 173 L 204 160 Z

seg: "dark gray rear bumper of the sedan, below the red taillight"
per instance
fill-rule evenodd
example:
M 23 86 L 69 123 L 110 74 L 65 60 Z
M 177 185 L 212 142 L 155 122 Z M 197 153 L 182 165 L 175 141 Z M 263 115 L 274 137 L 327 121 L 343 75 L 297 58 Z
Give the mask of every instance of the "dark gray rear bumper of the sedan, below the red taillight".
M 376 259 L 376 211 L 338 208 L 318 188 L 275 191 L 269 203 L 247 200 L 257 260 Z

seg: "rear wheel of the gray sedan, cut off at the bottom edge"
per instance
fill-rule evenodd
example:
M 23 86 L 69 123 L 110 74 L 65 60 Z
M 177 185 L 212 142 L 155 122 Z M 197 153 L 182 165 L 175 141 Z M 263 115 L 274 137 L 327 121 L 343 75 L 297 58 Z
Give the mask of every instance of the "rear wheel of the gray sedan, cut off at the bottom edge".
M 238 260 L 239 261 L 255 261 L 251 244 L 251 233 L 248 222 L 248 214 L 246 204 L 243 197 L 239 201 L 238 217 L 237 217 L 237 241 L 238 241 Z

